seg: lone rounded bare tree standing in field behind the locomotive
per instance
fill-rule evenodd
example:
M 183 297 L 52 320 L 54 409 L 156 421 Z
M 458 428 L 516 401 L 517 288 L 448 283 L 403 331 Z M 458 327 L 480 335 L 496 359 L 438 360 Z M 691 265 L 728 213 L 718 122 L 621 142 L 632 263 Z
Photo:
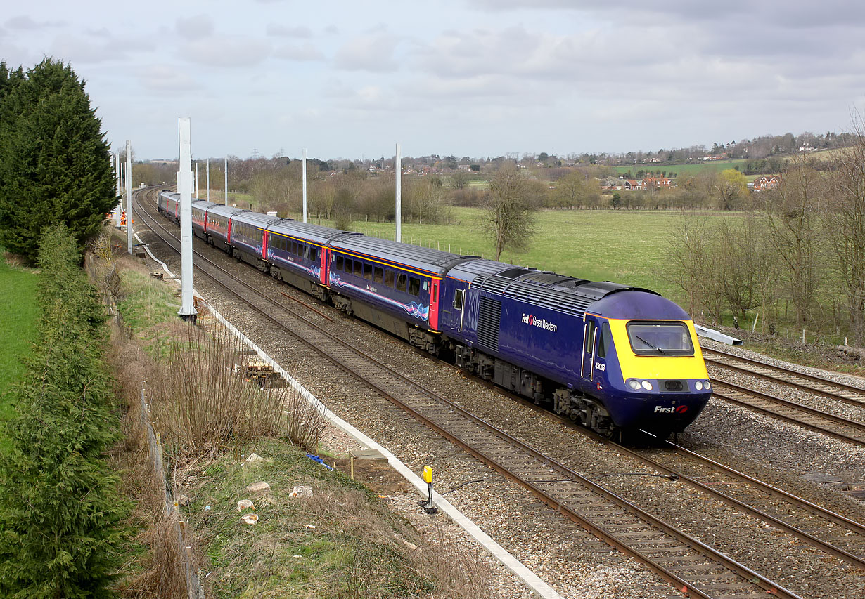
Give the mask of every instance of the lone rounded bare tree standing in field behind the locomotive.
M 505 248 L 520 251 L 529 245 L 534 233 L 536 203 L 516 164 L 505 162 L 490 181 L 490 194 L 484 201 L 484 232 L 492 238 L 496 259 Z

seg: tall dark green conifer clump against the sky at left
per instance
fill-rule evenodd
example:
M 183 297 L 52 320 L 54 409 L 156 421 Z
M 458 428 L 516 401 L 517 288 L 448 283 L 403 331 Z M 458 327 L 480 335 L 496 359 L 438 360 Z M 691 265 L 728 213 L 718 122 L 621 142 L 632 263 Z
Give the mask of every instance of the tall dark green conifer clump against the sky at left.
M 21 76 L 3 70 L 0 244 L 35 262 L 42 230 L 65 222 L 83 248 L 117 203 L 108 144 L 84 82 L 50 58 Z

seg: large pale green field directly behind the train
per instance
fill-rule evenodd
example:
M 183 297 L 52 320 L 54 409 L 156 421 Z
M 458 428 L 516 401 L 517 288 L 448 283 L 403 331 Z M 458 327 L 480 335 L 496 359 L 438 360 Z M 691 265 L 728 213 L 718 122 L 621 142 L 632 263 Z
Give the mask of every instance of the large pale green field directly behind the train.
M 403 223 L 402 240 L 494 258 L 492 243 L 478 226 L 481 214 L 477 208 L 453 207 L 452 225 Z M 537 214 L 537 234 L 529 251 L 506 251 L 501 259 L 572 277 L 646 287 L 676 300 L 680 291 L 663 277 L 663 266 L 680 219 L 677 212 L 644 210 L 544 211 Z M 321 224 L 333 226 L 326 221 Z M 394 223 L 355 221 L 352 229 L 394 239 Z

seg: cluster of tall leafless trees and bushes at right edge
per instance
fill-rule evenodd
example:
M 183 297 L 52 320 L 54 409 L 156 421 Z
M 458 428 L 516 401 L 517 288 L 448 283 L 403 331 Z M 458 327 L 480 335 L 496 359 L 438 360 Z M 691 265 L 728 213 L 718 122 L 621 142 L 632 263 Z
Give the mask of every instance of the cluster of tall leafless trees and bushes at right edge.
M 671 235 L 670 277 L 692 315 L 780 323 L 865 341 L 865 133 L 829 162 L 791 160 L 780 188 L 741 213 L 686 215 Z

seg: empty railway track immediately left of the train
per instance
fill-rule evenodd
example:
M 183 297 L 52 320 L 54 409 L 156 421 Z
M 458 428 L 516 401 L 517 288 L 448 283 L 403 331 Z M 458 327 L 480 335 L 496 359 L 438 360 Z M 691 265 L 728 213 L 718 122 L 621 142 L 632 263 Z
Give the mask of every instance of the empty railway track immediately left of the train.
M 155 234 L 158 235 L 157 229 L 167 233 L 163 239 L 167 245 L 179 245 L 176 238 L 174 242 L 167 239 L 174 236 L 158 220 L 140 210 L 138 212 L 139 221 L 151 222 Z M 209 277 L 215 277 L 216 284 L 285 330 L 287 335 L 307 344 L 325 360 L 350 373 L 364 386 L 378 392 L 471 456 L 528 488 L 558 513 L 637 558 L 673 583 L 676 589 L 689 593 L 689 596 L 715 599 L 765 597 L 766 594 L 797 597 L 790 590 L 657 519 L 597 482 L 396 373 L 303 315 L 292 313 L 284 304 L 259 293 L 251 285 L 236 280 L 223 281 L 233 277 L 227 276 L 226 271 L 202 253 L 195 252 L 195 256 L 196 268 Z M 274 305 L 278 307 L 279 315 L 271 314 Z

